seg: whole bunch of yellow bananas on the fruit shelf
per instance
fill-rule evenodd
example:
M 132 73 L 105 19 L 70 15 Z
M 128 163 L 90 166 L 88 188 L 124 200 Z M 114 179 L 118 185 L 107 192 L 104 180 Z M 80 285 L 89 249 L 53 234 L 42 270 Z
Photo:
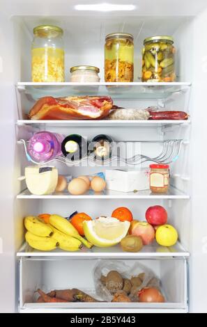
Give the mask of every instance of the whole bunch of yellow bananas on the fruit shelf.
M 25 239 L 32 248 L 49 251 L 59 247 L 61 250 L 77 251 L 82 248 L 82 243 L 91 248 L 92 244 L 83 239 L 66 218 L 58 215 L 50 217 L 49 223 L 44 223 L 36 216 L 24 218 L 27 230 Z

